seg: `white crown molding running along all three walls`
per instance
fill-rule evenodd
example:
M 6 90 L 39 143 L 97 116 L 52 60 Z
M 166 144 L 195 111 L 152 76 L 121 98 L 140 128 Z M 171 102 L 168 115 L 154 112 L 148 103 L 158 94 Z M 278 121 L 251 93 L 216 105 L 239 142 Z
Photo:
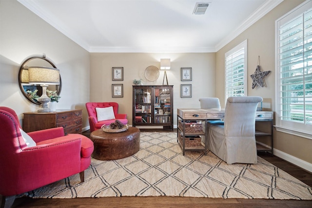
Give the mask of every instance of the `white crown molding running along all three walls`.
M 247 28 L 261 19 L 283 0 L 267 0 L 264 2 L 251 16 L 249 16 L 241 25 L 234 30 L 230 35 L 222 39 L 215 47 L 98 47 L 90 46 L 82 38 L 78 37 L 62 22 L 57 21 L 51 15 L 43 12 L 36 1 L 34 0 L 18 0 L 22 5 L 30 11 L 38 15 L 41 19 L 48 22 L 51 26 L 59 30 L 66 37 L 76 42 L 79 46 L 90 53 L 215 53 L 231 42 L 234 38 L 244 32 Z

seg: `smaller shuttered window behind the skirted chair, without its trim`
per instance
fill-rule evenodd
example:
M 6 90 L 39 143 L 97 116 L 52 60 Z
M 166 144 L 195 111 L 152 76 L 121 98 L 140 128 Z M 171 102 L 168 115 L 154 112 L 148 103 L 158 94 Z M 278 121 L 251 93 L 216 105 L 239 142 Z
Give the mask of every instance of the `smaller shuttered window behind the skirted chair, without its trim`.
M 247 95 L 247 40 L 225 54 L 225 100 Z

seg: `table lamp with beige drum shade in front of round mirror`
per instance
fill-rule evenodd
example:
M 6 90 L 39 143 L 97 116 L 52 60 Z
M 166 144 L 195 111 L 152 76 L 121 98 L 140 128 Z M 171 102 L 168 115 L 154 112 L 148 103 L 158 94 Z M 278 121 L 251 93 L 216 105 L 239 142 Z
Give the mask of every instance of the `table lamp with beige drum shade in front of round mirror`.
M 28 67 L 30 84 L 39 84 L 42 87 L 42 95 L 37 100 L 41 103 L 38 113 L 50 112 L 48 102 L 51 100 L 47 96 L 46 90 L 49 85 L 59 85 L 59 70 L 49 67 Z

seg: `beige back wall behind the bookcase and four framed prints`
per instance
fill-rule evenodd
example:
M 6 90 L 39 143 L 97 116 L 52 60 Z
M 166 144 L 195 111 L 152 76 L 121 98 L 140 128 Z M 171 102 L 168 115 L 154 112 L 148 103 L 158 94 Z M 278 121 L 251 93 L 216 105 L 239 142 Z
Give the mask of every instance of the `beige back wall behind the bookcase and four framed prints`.
M 162 85 L 164 71 L 156 81 L 148 81 L 148 66 L 160 68 L 160 58 L 171 59 L 167 71 L 168 84 L 174 85 L 174 124 L 177 108 L 199 108 L 199 97 L 215 96 L 215 53 L 149 54 L 92 53 L 90 56 L 90 101 L 117 102 L 119 113 L 127 113 L 132 125 L 132 81 L 142 79 L 144 85 Z M 112 67 L 123 67 L 123 81 L 112 81 Z M 192 67 L 192 81 L 181 81 L 181 67 Z M 166 83 L 166 81 L 165 81 Z M 123 97 L 112 97 L 112 84 L 123 84 Z M 180 84 L 192 84 L 192 97 L 180 97 Z

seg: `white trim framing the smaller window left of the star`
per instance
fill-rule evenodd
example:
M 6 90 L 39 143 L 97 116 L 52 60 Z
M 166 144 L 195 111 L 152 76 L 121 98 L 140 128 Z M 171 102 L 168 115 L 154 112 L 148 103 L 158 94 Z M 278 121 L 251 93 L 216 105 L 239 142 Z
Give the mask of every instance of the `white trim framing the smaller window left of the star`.
M 241 48 L 244 48 L 244 96 L 248 95 L 248 93 L 247 93 L 247 89 L 248 89 L 248 87 L 247 87 L 247 85 L 248 85 L 248 83 L 247 83 L 247 73 L 248 73 L 247 50 L 248 50 L 248 47 L 247 46 L 248 46 L 248 44 L 247 44 L 247 39 L 246 39 L 224 54 L 224 90 L 225 90 L 224 97 L 225 97 L 225 100 L 227 100 L 226 57 L 236 53 Z

